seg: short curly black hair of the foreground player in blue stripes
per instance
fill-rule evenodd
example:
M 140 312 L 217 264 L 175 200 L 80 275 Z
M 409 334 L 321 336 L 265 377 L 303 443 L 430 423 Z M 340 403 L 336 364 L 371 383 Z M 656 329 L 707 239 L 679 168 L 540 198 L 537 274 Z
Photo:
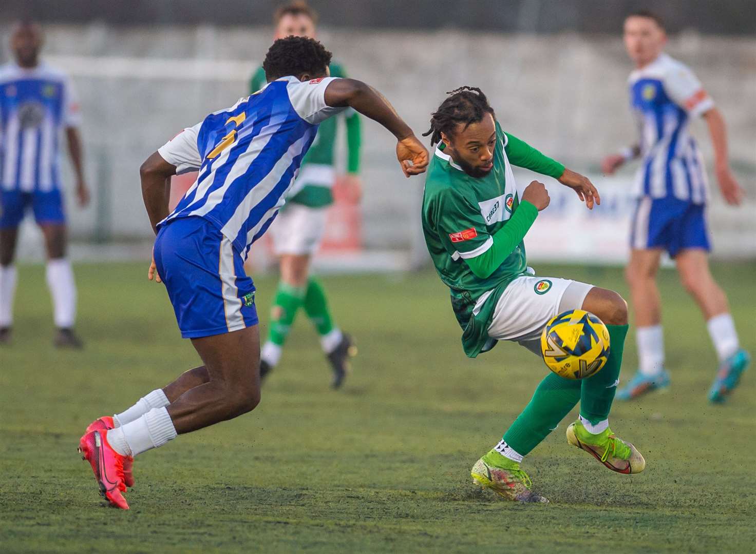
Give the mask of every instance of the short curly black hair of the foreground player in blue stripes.
M 273 43 L 262 69 L 268 82 L 287 75 L 299 77 L 308 73 L 313 77 L 322 77 L 327 72 L 331 54 L 320 42 L 305 36 L 287 36 Z

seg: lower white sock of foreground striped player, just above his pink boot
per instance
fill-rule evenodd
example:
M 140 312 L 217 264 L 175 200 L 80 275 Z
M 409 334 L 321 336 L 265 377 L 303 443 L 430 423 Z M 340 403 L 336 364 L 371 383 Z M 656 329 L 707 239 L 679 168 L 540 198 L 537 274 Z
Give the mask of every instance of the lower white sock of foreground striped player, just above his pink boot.
M 123 456 L 136 456 L 175 438 L 176 429 L 167 408 L 152 408 L 138 420 L 107 432 L 107 442 Z

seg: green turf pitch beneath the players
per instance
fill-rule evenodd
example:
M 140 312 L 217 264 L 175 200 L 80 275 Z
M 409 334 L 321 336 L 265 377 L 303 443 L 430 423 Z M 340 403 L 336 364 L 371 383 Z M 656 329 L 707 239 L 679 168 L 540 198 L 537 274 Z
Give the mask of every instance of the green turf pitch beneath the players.
M 626 291 L 618 269 L 538 269 Z M 328 389 L 317 337 L 300 317 L 256 411 L 142 455 L 132 510 L 104 508 L 76 454 L 85 425 L 197 364 L 146 272 L 77 266 L 87 347 L 59 352 L 43 269 L 20 267 L 15 340 L 0 349 L 0 551 L 754 549 L 756 375 L 727 405 L 706 402 L 714 352 L 671 271 L 661 280 L 671 390 L 612 412 L 612 429 L 646 455 L 639 476 L 613 474 L 569 447 L 568 419 L 525 460 L 552 503 L 482 494 L 469 468 L 545 366 L 511 344 L 466 359 L 431 273 L 333 277 L 324 279 L 333 310 L 360 349 L 345 389 Z M 754 264 L 716 271 L 751 352 L 754 273 Z M 273 290 L 272 279 L 259 281 L 263 319 Z

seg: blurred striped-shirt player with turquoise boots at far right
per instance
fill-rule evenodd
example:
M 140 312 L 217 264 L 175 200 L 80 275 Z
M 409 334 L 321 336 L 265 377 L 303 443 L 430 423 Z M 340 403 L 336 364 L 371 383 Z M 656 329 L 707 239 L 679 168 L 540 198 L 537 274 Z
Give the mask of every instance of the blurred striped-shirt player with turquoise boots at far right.
M 602 170 L 612 174 L 625 162 L 642 159 L 626 272 L 635 311 L 640 370 L 618 392 L 618 398 L 634 399 L 669 386 L 661 300 L 655 282 L 659 260 L 668 251 L 680 280 L 706 319 L 720 362 L 709 399 L 722 402 L 737 386 L 749 357 L 739 346 L 727 297 L 709 271 L 708 187 L 701 152 L 689 134 L 691 118 L 702 116 L 708 125 L 714 172 L 725 201 L 739 205 L 743 192 L 730 171 L 720 111 L 696 75 L 662 51 L 666 42 L 664 23 L 656 14 L 638 11 L 624 21 L 624 45 L 636 68 L 629 84 L 640 141 L 602 162 Z

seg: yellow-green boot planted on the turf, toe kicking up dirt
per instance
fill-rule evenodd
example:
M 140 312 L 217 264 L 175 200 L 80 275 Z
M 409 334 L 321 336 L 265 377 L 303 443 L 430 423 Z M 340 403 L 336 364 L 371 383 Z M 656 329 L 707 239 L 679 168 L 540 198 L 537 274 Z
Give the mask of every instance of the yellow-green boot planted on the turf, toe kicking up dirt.
M 490 488 L 507 500 L 518 502 L 548 502 L 545 497 L 531 491 L 528 474 L 520 469 L 519 463 L 502 456 L 491 449 L 472 466 L 472 482 L 482 488 Z

